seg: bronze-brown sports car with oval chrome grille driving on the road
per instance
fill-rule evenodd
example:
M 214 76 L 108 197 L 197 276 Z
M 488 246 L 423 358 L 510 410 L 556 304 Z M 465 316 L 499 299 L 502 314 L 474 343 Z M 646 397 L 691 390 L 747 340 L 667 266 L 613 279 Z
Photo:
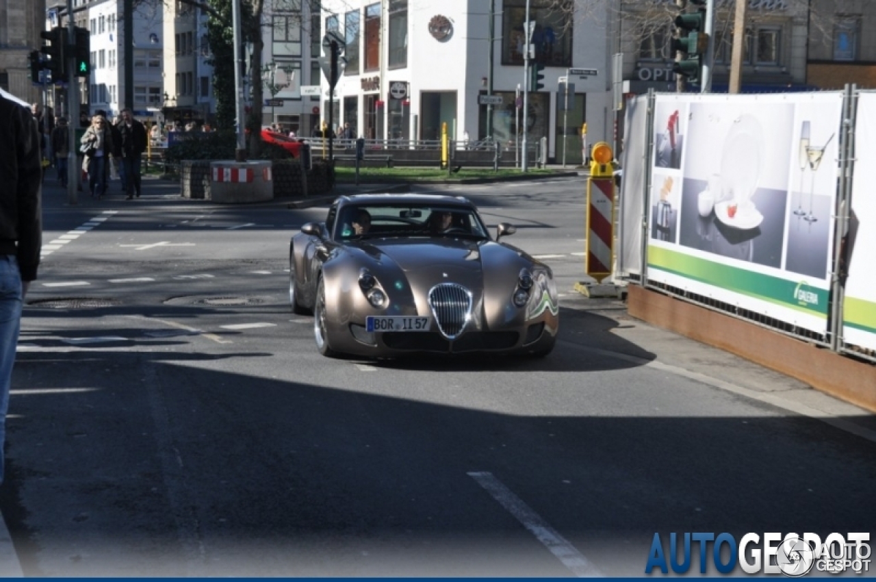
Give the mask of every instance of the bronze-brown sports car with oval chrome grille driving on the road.
M 289 243 L 289 302 L 325 356 L 554 348 L 550 267 L 495 240 L 465 198 L 341 196 Z

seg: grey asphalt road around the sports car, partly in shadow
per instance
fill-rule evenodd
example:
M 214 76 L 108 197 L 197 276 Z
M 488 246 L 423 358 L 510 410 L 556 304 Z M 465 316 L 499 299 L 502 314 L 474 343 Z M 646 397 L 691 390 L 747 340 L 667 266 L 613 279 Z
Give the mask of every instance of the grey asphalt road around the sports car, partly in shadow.
M 871 531 L 872 415 L 572 290 L 580 179 L 419 191 L 555 268 L 548 358 L 322 358 L 286 263 L 324 207 L 47 188 L 0 489 L 21 571 L 641 576 L 655 532 Z

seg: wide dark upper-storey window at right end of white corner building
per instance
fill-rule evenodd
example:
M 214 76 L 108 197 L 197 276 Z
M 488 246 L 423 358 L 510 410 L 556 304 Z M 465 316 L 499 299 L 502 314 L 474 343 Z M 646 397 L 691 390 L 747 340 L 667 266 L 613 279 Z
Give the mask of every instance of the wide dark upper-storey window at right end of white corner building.
M 572 66 L 572 24 L 569 8 L 551 0 L 533 0 L 529 18 L 535 23 L 532 44 L 535 60 L 548 67 Z M 526 45 L 526 0 L 504 0 L 502 15 L 502 64 L 522 65 Z

